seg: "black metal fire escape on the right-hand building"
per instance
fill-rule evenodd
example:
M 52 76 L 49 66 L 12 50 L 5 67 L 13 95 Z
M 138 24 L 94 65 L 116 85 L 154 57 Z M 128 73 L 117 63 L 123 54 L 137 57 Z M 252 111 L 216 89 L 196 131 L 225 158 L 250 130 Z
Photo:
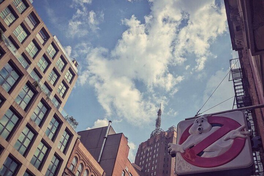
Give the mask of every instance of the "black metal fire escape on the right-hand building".
M 233 81 L 233 86 L 235 91 L 233 107 L 235 105 L 237 106 L 237 108 L 252 106 L 253 103 L 249 93 L 250 87 L 249 87 L 247 75 L 243 69 L 243 65 L 239 61 L 239 58 L 230 60 L 230 68 L 231 68 L 231 72 L 229 75 L 229 81 Z M 248 129 L 252 133 L 251 139 L 252 138 L 255 139 L 258 136 L 260 136 L 259 131 L 257 129 L 256 114 L 252 109 L 244 110 L 244 112 L 247 116 Z M 251 142 L 253 144 L 253 141 Z M 252 176 L 264 175 L 263 146 L 260 146 L 258 148 L 252 148 L 252 152 L 253 152 L 253 160 L 256 168 L 255 174 L 253 174 Z

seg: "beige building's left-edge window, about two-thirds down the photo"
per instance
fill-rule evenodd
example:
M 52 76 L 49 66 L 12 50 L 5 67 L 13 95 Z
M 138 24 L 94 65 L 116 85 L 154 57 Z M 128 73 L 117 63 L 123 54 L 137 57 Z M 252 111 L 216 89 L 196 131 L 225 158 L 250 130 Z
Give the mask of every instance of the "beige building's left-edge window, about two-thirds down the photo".
M 19 118 L 17 115 L 8 109 L 5 115 L 0 120 L 0 135 L 4 139 L 8 139 L 15 126 L 17 126 Z

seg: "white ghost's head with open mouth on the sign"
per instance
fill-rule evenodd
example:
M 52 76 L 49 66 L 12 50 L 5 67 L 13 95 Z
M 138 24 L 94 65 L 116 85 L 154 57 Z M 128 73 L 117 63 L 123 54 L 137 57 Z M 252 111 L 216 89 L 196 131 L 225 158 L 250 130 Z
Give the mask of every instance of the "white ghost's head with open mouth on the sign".
M 194 122 L 191 128 L 189 129 L 189 133 L 191 135 L 207 133 L 212 128 L 211 124 L 208 123 L 206 117 L 198 117 Z

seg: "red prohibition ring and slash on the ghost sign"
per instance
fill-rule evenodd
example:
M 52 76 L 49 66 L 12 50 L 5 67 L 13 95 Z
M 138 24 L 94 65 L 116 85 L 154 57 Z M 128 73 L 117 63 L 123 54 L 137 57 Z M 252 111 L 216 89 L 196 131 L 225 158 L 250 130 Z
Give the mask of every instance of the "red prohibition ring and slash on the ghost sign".
M 243 150 L 246 139 L 235 138 L 230 149 L 227 150 L 222 155 L 211 158 L 197 156 L 197 154 L 202 152 L 205 148 L 207 148 L 216 140 L 223 137 L 229 131 L 236 130 L 238 127 L 241 126 L 237 121 L 228 117 L 211 116 L 211 117 L 207 117 L 207 119 L 210 124 L 220 124 L 223 126 L 220 127 L 218 130 L 216 130 L 211 135 L 207 136 L 204 140 L 200 142 L 200 144 L 196 144 L 191 149 L 186 149 L 185 153 L 181 153 L 181 155 L 188 163 L 192 165 L 203 168 L 212 168 L 226 164 L 229 161 L 236 158 Z M 191 126 L 192 124 L 188 126 L 188 128 L 186 128 L 186 130 L 182 133 L 182 136 L 179 141 L 180 145 L 191 135 L 189 133 L 189 129 L 191 128 Z

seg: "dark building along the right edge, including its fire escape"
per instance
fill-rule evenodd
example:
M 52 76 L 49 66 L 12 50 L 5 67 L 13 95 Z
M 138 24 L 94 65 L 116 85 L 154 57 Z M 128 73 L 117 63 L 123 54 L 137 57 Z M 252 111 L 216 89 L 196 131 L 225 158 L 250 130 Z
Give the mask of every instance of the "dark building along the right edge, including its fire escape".
M 234 106 L 264 104 L 264 0 L 224 0 L 232 48 L 230 60 L 235 91 Z M 264 175 L 264 109 L 247 109 L 255 164 L 253 175 Z M 261 140 L 262 139 L 262 140 Z

